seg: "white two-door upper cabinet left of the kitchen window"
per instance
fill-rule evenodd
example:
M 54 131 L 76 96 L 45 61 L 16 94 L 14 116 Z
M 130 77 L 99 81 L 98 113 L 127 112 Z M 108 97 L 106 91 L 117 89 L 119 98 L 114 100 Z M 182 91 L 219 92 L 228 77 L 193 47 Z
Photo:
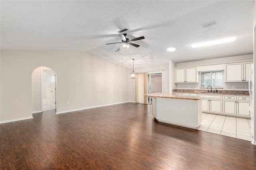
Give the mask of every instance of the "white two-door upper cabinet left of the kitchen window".
M 175 83 L 197 83 L 196 67 L 175 68 Z

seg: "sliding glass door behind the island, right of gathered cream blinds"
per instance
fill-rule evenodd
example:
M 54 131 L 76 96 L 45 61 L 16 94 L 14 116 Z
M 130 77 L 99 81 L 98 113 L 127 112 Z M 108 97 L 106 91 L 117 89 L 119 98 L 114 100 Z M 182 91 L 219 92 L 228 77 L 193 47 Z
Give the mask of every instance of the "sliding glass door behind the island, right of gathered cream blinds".
M 163 92 L 163 71 L 148 72 L 148 93 Z M 148 97 L 148 104 L 151 104 L 151 97 Z

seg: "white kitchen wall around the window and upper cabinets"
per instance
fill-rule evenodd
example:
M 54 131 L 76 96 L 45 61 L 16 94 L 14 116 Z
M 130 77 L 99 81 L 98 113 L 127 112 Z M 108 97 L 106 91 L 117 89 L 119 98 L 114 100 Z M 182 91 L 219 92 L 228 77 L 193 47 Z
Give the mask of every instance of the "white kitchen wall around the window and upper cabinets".
M 224 57 L 224 58 L 218 58 L 218 59 L 207 59 L 207 60 L 200 60 L 200 61 L 190 61 L 190 62 L 183 62 L 183 63 L 176 63 L 176 67 L 188 67 L 188 66 L 195 66 L 195 65 L 208 65 L 208 64 L 214 64 L 214 63 L 225 63 L 225 62 L 234 62 L 234 61 L 243 61 L 243 60 L 252 60 L 253 55 L 239 55 L 239 56 L 234 56 L 234 57 Z M 212 66 L 206 66 L 208 68 L 208 71 L 212 70 L 224 70 L 225 65 L 224 64 L 219 64 L 219 65 L 214 65 Z M 207 71 L 205 70 L 205 66 L 200 66 L 198 67 L 197 71 Z M 199 72 L 198 72 L 198 77 L 199 77 Z M 174 79 L 174 77 L 173 77 Z M 200 89 L 200 77 L 199 77 L 199 83 L 176 83 L 176 88 L 177 89 Z M 234 90 L 232 89 L 232 86 L 236 86 L 235 90 L 248 90 L 245 89 L 245 86 L 248 86 L 248 83 L 244 82 L 224 82 L 224 89 L 225 90 Z

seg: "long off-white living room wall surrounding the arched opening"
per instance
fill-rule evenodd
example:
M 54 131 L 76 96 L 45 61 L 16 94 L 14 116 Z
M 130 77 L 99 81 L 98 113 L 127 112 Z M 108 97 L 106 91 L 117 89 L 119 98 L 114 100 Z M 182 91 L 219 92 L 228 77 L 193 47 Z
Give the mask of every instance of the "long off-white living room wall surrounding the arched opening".
M 32 116 L 32 72 L 40 66 L 56 72 L 58 113 L 130 100 L 128 69 L 86 52 L 1 50 L 0 55 L 1 122 Z

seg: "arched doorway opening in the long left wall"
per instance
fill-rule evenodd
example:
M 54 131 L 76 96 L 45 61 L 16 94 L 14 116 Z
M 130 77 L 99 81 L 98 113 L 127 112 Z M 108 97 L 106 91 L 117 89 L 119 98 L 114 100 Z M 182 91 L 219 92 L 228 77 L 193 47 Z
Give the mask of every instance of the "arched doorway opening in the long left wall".
M 56 110 L 56 73 L 38 67 L 32 73 L 32 113 Z

